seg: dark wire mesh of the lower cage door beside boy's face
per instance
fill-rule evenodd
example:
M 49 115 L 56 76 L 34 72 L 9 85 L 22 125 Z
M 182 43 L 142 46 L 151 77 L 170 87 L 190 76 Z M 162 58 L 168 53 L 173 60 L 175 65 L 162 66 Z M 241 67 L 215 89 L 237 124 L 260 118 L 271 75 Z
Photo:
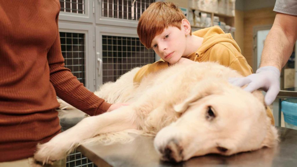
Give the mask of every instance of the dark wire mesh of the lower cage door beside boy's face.
M 116 81 L 134 67 L 155 62 L 155 53 L 139 38 L 102 36 L 103 83 Z

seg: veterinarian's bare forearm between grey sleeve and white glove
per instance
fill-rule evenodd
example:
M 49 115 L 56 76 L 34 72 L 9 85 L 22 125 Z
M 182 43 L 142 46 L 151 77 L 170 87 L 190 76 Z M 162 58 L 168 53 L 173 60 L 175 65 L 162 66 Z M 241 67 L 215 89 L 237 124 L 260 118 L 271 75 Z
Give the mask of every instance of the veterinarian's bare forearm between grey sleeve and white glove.
M 260 67 L 274 66 L 279 71 L 282 69 L 290 58 L 296 42 L 297 34 L 293 28 L 296 24 L 295 16 L 277 14 L 265 40 Z

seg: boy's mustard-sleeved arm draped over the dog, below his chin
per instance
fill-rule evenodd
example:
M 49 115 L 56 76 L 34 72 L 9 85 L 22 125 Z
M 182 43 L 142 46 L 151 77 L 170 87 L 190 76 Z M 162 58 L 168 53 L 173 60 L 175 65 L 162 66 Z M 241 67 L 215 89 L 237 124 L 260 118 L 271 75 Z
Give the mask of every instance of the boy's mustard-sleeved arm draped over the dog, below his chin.
M 162 59 L 154 62 L 153 64 L 146 64 L 145 66 L 141 67 L 140 70 L 135 74 L 133 83 L 140 83 L 141 80 L 150 73 L 154 73 L 167 67 L 168 62 L 164 62 Z

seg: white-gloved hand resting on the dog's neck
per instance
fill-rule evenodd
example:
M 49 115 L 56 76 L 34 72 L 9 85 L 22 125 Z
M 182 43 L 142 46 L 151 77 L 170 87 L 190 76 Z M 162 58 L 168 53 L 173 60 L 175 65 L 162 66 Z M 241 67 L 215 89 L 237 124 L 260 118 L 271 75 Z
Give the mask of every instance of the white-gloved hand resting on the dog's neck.
M 255 74 L 251 74 L 244 78 L 229 78 L 229 82 L 235 86 L 242 87 L 248 84 L 244 90 L 253 92 L 257 89 L 263 89 L 266 93 L 264 101 L 266 105 L 271 103 L 279 93 L 279 77 L 280 71 L 274 66 L 265 66 L 259 68 Z

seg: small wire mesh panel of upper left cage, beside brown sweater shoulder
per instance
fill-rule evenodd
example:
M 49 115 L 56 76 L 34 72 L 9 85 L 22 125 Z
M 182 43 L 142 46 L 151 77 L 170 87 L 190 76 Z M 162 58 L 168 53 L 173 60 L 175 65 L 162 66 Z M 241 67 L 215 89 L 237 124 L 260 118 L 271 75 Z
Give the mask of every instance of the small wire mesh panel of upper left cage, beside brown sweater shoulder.
M 84 0 L 60 0 L 60 11 L 70 13 L 85 13 L 85 1 Z

